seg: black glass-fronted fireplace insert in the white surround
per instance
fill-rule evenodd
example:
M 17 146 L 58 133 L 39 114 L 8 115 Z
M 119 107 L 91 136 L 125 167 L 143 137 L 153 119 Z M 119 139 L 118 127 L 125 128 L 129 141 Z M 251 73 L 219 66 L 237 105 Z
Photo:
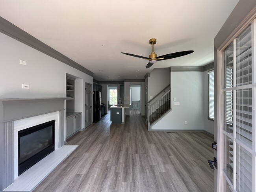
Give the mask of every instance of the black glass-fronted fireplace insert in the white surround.
M 18 132 L 19 175 L 54 151 L 55 120 Z

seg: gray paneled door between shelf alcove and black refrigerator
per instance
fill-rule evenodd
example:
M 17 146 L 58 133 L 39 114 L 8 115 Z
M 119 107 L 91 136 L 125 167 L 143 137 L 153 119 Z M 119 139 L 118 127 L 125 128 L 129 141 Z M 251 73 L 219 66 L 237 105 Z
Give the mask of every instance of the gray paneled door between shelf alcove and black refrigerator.
M 92 85 L 85 83 L 85 127 L 92 122 Z

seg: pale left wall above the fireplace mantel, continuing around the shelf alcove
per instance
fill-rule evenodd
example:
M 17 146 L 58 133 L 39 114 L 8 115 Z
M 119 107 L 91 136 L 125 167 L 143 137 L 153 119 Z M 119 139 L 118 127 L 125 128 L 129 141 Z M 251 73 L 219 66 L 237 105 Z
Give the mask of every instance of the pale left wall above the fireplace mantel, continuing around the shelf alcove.
M 75 106 L 84 114 L 85 82 L 93 84 L 92 76 L 2 33 L 0 42 L 0 98 L 66 97 L 68 73 L 80 78 L 76 81 Z M 27 66 L 20 65 L 19 59 L 27 61 Z M 29 84 L 30 89 L 22 89 L 22 84 Z

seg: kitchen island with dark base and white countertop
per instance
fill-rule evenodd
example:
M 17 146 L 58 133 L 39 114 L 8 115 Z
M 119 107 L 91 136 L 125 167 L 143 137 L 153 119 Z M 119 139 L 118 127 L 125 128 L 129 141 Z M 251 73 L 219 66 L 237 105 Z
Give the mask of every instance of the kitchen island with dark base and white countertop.
M 124 124 L 126 117 L 125 108 L 129 107 L 129 104 L 112 105 L 110 107 L 110 121 L 114 124 Z

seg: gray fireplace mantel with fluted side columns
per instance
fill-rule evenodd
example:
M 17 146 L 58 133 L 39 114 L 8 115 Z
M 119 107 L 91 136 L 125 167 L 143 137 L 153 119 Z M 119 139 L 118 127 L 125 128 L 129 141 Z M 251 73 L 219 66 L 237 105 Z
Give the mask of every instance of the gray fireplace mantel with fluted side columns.
M 66 98 L 0 99 L 0 191 L 14 181 L 14 121 L 58 112 L 58 147 L 61 148 L 65 141 L 65 100 Z

